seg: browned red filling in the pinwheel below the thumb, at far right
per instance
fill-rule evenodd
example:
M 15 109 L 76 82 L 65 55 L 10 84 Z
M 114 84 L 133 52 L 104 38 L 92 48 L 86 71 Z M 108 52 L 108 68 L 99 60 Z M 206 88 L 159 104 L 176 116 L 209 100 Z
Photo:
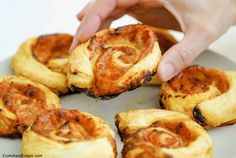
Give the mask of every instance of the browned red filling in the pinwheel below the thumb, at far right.
M 219 70 L 207 69 L 200 66 L 190 66 L 168 81 L 169 86 L 176 92 L 196 94 L 215 86 L 221 93 L 229 89 L 228 77 Z

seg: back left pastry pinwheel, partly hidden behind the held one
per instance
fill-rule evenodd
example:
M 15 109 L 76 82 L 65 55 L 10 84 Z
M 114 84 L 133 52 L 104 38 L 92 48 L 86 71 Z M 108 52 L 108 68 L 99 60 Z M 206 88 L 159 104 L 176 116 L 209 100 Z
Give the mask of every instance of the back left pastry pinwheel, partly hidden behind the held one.
M 69 47 L 72 36 L 49 34 L 26 40 L 12 58 L 17 75 L 39 82 L 57 94 L 65 94 Z

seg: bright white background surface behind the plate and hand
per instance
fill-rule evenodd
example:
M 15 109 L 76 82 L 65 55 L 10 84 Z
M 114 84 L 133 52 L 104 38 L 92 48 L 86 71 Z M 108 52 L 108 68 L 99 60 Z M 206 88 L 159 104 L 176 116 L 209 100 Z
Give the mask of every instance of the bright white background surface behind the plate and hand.
M 73 34 L 79 24 L 76 14 L 87 2 L 89 0 L 1 0 L 0 61 L 12 56 L 19 45 L 31 36 L 56 32 Z M 112 27 L 130 23 L 137 21 L 124 16 Z M 236 61 L 236 26 L 231 27 L 209 49 Z

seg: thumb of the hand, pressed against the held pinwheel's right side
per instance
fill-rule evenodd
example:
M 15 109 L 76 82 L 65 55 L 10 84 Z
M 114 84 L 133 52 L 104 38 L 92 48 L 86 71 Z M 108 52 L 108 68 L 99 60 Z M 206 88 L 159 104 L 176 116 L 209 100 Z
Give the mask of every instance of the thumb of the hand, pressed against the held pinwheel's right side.
M 186 33 L 184 39 L 171 47 L 162 57 L 158 67 L 158 77 L 167 81 L 189 66 L 193 60 L 211 43 L 209 32 Z

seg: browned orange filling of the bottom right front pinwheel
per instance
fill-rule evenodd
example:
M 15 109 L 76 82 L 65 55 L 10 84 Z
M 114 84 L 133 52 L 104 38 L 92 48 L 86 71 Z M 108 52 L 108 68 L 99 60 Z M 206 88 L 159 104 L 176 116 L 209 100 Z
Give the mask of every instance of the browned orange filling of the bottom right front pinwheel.
M 168 157 L 162 148 L 181 148 L 197 138 L 195 133 L 183 122 L 156 121 L 147 128 L 142 128 L 136 133 L 129 135 L 125 139 L 125 146 L 122 151 L 123 156 L 132 149 L 143 149 L 138 156 L 146 157 Z M 138 157 L 137 156 L 137 157 Z

